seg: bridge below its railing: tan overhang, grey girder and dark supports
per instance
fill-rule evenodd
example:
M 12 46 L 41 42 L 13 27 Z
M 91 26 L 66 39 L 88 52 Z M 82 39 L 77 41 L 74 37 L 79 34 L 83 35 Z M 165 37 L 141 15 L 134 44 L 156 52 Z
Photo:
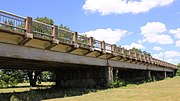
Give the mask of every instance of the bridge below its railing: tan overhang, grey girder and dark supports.
M 56 85 L 60 87 L 107 86 L 116 75 L 122 79 L 136 80 L 153 76 L 172 77 L 174 74 L 171 68 L 110 58 L 108 53 L 76 49 L 71 45 L 59 44 L 47 50 L 51 43 L 45 40 L 32 39 L 25 46 L 18 45 L 18 40 L 23 38 L 22 35 L 0 34 L 0 68 L 54 71 Z

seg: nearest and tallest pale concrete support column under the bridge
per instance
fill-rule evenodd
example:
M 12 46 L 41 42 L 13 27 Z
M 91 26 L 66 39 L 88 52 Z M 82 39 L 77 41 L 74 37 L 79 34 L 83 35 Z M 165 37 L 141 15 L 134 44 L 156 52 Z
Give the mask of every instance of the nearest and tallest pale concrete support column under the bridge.
M 107 86 L 109 86 L 109 84 L 113 82 L 113 67 L 111 66 L 108 66 L 106 69 L 106 81 Z

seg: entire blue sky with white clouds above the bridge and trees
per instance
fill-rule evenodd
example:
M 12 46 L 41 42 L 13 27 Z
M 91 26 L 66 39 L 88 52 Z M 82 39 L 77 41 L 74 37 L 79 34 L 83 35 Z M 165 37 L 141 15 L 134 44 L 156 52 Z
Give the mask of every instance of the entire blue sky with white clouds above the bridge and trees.
M 1 0 L 0 9 L 180 63 L 180 0 Z

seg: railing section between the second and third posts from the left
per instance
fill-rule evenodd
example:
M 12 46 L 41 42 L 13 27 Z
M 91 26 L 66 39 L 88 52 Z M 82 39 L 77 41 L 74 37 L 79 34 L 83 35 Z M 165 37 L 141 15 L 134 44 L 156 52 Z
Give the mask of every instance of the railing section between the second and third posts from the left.
M 72 45 L 73 44 L 73 34 L 74 34 L 74 32 L 59 28 L 57 39 L 62 43 Z

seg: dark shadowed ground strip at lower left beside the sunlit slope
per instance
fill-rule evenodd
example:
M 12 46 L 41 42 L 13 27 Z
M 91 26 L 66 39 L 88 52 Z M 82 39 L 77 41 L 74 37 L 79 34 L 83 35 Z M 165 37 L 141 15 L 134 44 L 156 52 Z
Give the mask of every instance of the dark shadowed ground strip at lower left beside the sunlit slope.
M 19 87 L 18 87 L 19 88 Z M 17 89 L 18 89 L 17 88 Z M 38 88 L 24 92 L 0 93 L 0 101 L 41 101 L 46 99 L 81 96 L 90 92 L 97 92 L 100 89 L 90 88 Z M 101 89 L 102 90 L 102 89 Z

